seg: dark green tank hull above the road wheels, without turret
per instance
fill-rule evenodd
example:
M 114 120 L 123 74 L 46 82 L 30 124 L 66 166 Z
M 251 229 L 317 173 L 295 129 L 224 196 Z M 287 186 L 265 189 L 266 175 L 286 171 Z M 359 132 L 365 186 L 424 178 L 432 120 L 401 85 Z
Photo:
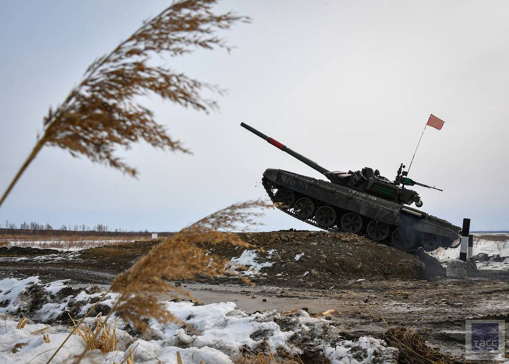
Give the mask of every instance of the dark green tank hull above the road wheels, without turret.
M 439 239 L 437 240 L 439 242 L 433 249 L 438 246 L 451 246 L 454 240 L 460 238 L 459 232 L 461 229 L 448 221 L 405 205 L 402 206 L 368 193 L 356 191 L 348 186 L 342 186 L 276 169 L 266 170 L 263 177 L 264 187 L 269 193 L 269 197 L 271 197 L 274 202 L 276 202 L 273 194 L 274 189 L 286 188 L 293 191 L 297 197 L 311 199 L 316 207 L 320 205 L 333 208 L 338 215 L 336 220 L 339 220 L 341 215 L 347 212 L 353 212 L 362 217 L 364 226 L 367 221 L 375 220 L 387 224 L 391 231 L 398 227 L 409 229 L 414 232 L 415 235 L 415 244 L 412 248 L 418 248 L 420 246 L 418 240 L 421 235 L 432 235 L 436 239 Z M 291 208 L 280 208 L 282 210 L 287 210 L 285 212 L 292 215 Z M 313 217 L 303 219 L 296 214 L 293 215 L 312 225 L 323 228 L 323 226 L 316 223 Z M 326 230 L 342 229 L 341 226 L 335 225 L 326 228 Z M 384 241 L 390 243 L 390 234 L 387 238 L 384 238 Z M 427 250 L 433 249 L 428 248 Z

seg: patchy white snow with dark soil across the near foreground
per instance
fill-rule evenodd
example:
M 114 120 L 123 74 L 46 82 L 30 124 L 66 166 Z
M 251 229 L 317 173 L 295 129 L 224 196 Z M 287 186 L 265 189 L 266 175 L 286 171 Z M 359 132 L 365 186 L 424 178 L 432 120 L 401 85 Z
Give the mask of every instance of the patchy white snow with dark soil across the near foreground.
M 30 320 L 23 329 L 15 328 L 18 319 L 6 319 L 7 330 L 0 330 L 1 363 L 45 363 L 67 338 L 70 329 L 43 322 L 60 316 L 68 308 L 67 305 L 80 308 L 81 314 L 84 314 L 86 307 L 93 304 L 91 301 L 96 301 L 103 294 L 74 291 L 73 295 L 59 300 L 53 299 L 52 294 L 61 292 L 66 284 L 67 280 L 42 284 L 37 276 L 25 279 L 6 278 L 0 281 L 0 302 L 3 302 L 2 299 L 7 302 L 7 306 L 2 307 L 4 313 L 17 313 L 17 308 L 25 307 L 27 301 L 31 300 L 27 294 L 36 288 L 48 295 L 48 301 L 43 302 L 42 308 L 32 316 L 27 316 Z M 117 298 L 118 295 L 109 294 L 104 303 L 111 306 Z M 241 358 L 243 348 L 253 352 L 262 349 L 295 355 L 302 354 L 307 347 L 318 350 L 332 363 L 394 362 L 395 358 L 396 349 L 385 347 L 383 341 L 372 337 L 361 337 L 356 341 L 342 340 L 340 334 L 334 331 L 335 326 L 330 325 L 330 321 L 310 317 L 302 310 L 294 315 L 282 316 L 275 310 L 247 314 L 238 310 L 234 302 L 206 305 L 196 305 L 189 301 L 163 303 L 166 309 L 180 320 L 178 324 L 160 323 L 150 319 L 148 323 L 151 340 L 146 340 L 132 337 L 123 330 L 125 323 L 122 319 L 117 318 L 119 350 L 105 354 L 93 350 L 92 356 L 87 357 L 83 363 L 121 362 L 129 356 L 130 349 L 133 350 L 137 364 L 153 364 L 157 360 L 176 363 L 177 352 L 184 362 L 203 360 L 207 363 L 233 363 Z M 28 313 L 25 311 L 25 314 Z M 111 317 L 111 320 L 113 319 Z M 42 322 L 36 323 L 32 320 Z M 49 329 L 38 334 L 31 333 L 46 326 L 49 326 Z M 43 341 L 43 333 L 49 334 L 49 344 Z M 11 352 L 15 346 L 17 351 Z M 71 335 L 54 362 L 72 361 L 72 356 L 79 354 L 83 347 L 84 343 L 79 335 Z

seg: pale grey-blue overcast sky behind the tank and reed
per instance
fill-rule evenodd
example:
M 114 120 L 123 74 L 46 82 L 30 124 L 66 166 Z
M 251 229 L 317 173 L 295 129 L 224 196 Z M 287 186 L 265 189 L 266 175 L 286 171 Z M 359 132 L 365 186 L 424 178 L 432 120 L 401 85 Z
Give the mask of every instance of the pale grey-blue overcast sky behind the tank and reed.
M 0 4 L 0 189 L 30 153 L 49 105 L 99 55 L 168 1 Z M 45 147 L 0 208 L 9 219 L 174 231 L 263 197 L 267 168 L 320 174 L 239 126 L 250 124 L 329 170 L 410 162 L 422 210 L 475 230 L 509 229 L 509 3 L 506 1 L 223 1 L 253 18 L 224 33 L 237 48 L 160 63 L 229 90 L 205 115 L 145 100 L 194 155 L 137 145 L 139 179 Z M 265 229 L 305 229 L 269 211 Z

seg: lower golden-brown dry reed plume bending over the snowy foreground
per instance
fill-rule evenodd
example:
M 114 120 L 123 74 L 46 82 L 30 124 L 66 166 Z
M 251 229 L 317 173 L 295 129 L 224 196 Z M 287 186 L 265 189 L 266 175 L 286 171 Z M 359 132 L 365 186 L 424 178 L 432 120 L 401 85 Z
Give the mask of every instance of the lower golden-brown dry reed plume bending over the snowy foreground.
M 249 227 L 260 225 L 258 219 L 263 215 L 260 209 L 272 206 L 262 200 L 233 204 L 196 221 L 172 237 L 165 238 L 146 256 L 115 278 L 110 290 L 103 294 L 79 322 L 75 322 L 69 336 L 76 332 L 83 320 L 110 291 L 118 292 L 120 295 L 104 318 L 102 327 L 105 327 L 113 313 L 122 316 L 124 321 L 130 322 L 133 327 L 142 329 L 144 332 L 148 329 L 144 321 L 147 318 L 154 318 L 160 323 L 179 322 L 166 309 L 165 303 L 159 301 L 158 295 L 164 294 L 165 299 L 189 298 L 190 295 L 186 290 L 177 288 L 170 281 L 195 279 L 198 274 L 219 276 L 226 272 L 233 272 L 228 260 L 214 254 L 207 255 L 208 249 L 203 244 L 228 243 L 250 247 L 250 244 L 231 231 L 245 231 Z M 247 279 L 245 281 L 248 282 Z M 98 334 L 96 332 L 87 339 L 87 347 L 76 358 L 76 362 L 86 355 Z M 67 339 L 53 353 L 48 363 L 66 341 Z

